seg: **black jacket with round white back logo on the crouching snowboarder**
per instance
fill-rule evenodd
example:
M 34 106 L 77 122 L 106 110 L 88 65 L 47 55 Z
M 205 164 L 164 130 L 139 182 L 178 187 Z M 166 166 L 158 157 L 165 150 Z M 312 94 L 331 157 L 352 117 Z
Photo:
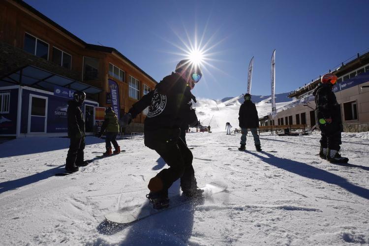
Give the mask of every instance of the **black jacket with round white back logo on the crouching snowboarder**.
M 181 125 L 195 126 L 197 117 L 191 107 L 194 98 L 186 81 L 177 73 L 163 78 L 155 89 L 144 95 L 129 109 L 135 118 L 146 107 L 145 132 L 158 129 L 179 129 Z

